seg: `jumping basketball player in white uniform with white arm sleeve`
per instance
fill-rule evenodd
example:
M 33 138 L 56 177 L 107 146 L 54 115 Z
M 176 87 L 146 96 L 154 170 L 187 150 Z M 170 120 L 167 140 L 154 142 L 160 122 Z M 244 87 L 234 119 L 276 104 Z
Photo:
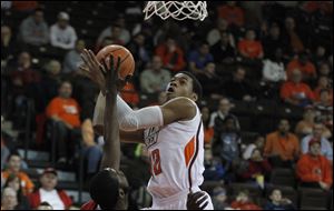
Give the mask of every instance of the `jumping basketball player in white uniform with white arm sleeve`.
M 95 110 L 94 124 L 104 123 L 104 93 L 107 92 L 101 66 L 91 51 L 81 54 L 80 69 L 99 84 L 101 93 Z M 167 87 L 167 102 L 134 111 L 117 96 L 117 118 L 122 141 L 145 143 L 150 154 L 151 179 L 148 191 L 153 195 L 151 209 L 185 210 L 187 195 L 200 191 L 204 171 L 204 132 L 196 101 L 202 86 L 189 72 L 177 73 Z M 110 118 L 110 117 L 108 117 Z M 213 210 L 205 193 L 205 210 Z

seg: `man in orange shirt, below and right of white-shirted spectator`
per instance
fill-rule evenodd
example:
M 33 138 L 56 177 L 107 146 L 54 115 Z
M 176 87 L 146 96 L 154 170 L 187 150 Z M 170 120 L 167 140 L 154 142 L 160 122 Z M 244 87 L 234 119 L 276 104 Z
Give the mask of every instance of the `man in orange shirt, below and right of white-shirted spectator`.
M 311 104 L 314 100 L 314 94 L 311 88 L 302 82 L 302 72 L 298 69 L 294 69 L 291 78 L 281 87 L 281 99 L 297 107 Z

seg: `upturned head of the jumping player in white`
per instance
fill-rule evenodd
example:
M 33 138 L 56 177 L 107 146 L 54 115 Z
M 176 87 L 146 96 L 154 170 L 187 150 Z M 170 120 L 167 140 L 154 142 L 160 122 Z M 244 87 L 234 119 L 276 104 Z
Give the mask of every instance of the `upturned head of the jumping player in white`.
M 176 73 L 167 86 L 167 99 L 186 97 L 194 101 L 202 98 L 202 86 L 194 74 L 186 71 Z

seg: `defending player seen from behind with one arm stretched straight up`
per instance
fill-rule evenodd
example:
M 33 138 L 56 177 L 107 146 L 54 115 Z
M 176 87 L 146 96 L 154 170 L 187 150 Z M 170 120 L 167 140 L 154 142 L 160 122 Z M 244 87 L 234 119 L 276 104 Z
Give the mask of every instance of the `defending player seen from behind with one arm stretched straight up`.
M 110 59 L 110 67 L 114 59 Z M 91 201 L 81 207 L 81 210 L 127 210 L 128 182 L 125 174 L 119 171 L 120 142 L 116 115 L 116 80 L 118 68 L 106 73 L 106 111 L 105 111 L 105 145 L 101 161 L 101 171 L 90 180 L 89 193 Z M 117 127 L 115 127 L 117 125 Z

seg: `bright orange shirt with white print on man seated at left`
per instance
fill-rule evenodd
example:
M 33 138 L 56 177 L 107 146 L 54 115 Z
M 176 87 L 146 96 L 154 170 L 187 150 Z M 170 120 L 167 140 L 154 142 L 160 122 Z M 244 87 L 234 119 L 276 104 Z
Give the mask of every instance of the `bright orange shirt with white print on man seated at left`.
M 61 120 L 72 127 L 80 127 L 80 115 L 78 102 L 72 99 L 65 99 L 61 97 L 53 98 L 47 107 L 47 117 L 58 115 Z

